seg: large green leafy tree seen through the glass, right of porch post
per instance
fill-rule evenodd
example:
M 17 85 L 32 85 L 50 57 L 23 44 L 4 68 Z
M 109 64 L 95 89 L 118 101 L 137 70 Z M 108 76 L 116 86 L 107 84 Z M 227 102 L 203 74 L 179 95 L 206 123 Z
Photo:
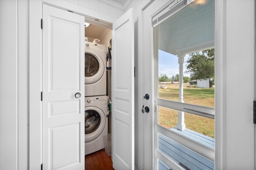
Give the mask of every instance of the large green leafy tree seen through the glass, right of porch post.
M 214 79 L 214 49 L 208 49 L 189 55 L 186 73 L 190 73 L 191 80 Z

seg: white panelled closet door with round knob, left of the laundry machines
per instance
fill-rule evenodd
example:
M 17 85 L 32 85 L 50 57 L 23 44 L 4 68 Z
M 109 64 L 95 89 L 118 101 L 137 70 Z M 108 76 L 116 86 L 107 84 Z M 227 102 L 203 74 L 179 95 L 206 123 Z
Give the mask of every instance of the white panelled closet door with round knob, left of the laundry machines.
M 46 4 L 42 11 L 43 167 L 82 170 L 84 16 Z

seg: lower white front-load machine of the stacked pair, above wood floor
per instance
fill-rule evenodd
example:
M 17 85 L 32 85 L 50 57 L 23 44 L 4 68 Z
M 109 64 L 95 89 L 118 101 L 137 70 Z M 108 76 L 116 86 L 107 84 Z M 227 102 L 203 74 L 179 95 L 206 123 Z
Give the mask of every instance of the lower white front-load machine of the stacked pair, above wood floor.
M 85 155 L 104 149 L 103 136 L 108 134 L 108 97 L 85 97 Z

